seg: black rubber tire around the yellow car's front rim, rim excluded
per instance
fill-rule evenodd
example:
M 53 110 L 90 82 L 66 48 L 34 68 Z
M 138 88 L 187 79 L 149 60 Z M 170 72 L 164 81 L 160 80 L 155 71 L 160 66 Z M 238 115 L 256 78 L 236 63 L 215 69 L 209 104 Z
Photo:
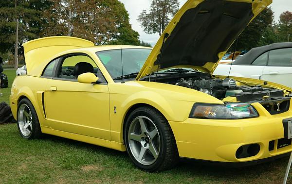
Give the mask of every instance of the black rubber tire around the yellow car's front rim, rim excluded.
M 130 124 L 135 118 L 141 117 L 141 116 L 151 119 L 152 122 L 155 124 L 159 133 L 160 151 L 159 151 L 156 161 L 151 165 L 141 164 L 135 158 L 129 146 L 128 133 L 129 133 Z M 134 163 L 136 167 L 139 167 L 142 170 L 146 170 L 148 172 L 157 172 L 157 171 L 162 171 L 166 169 L 171 169 L 179 161 L 179 153 L 178 153 L 177 145 L 176 145 L 172 130 L 168 124 L 168 121 L 159 111 L 157 111 L 156 109 L 152 107 L 149 107 L 149 106 L 139 107 L 130 113 L 125 123 L 124 142 L 125 142 L 130 159 L 132 160 L 132 162 Z

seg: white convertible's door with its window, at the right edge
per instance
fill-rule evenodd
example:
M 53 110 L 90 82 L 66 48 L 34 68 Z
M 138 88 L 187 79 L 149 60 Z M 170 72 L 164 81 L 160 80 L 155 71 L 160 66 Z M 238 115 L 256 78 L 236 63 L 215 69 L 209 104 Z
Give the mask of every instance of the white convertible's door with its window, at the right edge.
M 262 79 L 292 87 L 292 48 L 270 50 Z

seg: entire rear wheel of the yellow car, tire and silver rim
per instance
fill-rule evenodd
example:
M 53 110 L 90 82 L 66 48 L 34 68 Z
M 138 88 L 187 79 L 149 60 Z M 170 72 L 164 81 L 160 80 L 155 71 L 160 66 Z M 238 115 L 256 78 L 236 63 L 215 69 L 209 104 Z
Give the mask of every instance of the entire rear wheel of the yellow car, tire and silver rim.
M 22 99 L 17 113 L 18 131 L 23 138 L 33 139 L 41 135 L 37 112 L 28 99 Z

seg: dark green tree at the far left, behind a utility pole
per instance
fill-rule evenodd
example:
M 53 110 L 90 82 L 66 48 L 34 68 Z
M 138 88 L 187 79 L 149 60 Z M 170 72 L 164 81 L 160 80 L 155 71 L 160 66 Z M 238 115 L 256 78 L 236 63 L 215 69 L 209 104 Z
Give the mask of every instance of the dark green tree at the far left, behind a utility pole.
M 47 4 L 48 0 L 0 1 L 0 52 L 15 53 L 15 67 L 19 46 L 39 37 L 43 28 L 39 17 Z

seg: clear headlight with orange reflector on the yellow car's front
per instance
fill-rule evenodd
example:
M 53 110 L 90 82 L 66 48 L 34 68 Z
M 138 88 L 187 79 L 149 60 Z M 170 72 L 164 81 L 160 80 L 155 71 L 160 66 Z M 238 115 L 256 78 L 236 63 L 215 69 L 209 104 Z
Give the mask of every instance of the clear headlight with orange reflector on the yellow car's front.
M 242 119 L 258 117 L 256 109 L 248 103 L 226 103 L 225 105 L 195 103 L 190 118 Z

